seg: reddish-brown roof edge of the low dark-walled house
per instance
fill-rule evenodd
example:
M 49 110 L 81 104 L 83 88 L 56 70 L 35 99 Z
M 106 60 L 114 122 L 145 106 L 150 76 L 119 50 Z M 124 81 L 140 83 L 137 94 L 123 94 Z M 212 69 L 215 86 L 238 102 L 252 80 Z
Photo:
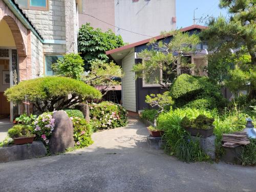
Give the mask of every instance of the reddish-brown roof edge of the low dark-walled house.
M 191 25 L 189 27 L 181 28 L 180 31 L 186 32 L 186 31 L 189 31 L 189 30 L 192 30 L 192 29 L 206 29 L 206 28 L 207 27 L 201 26 L 201 25 Z M 126 45 L 126 46 L 122 46 L 122 47 L 119 47 L 119 48 L 116 48 L 116 49 L 112 49 L 112 50 L 106 51 L 105 53 L 106 53 L 106 55 L 110 55 L 110 54 L 113 54 L 113 53 L 116 53 L 116 52 L 119 52 L 119 51 L 122 51 L 122 50 L 125 50 L 125 49 L 130 49 L 130 48 L 134 48 L 136 46 L 147 44 L 152 39 L 159 40 L 159 39 L 162 39 L 164 37 L 166 37 L 166 36 L 158 35 L 158 36 L 155 36 L 155 37 L 152 37 L 152 38 L 148 38 L 148 39 L 145 39 L 145 40 L 134 42 L 133 44 L 129 44 L 129 45 Z

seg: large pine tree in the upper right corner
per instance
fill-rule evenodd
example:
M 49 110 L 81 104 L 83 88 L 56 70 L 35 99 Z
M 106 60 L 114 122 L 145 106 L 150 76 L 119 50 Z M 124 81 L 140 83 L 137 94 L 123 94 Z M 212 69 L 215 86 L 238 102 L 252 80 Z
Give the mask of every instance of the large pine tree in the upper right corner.
M 222 53 L 230 49 L 248 52 L 256 65 L 256 2 L 255 0 L 220 0 L 221 8 L 228 8 L 230 17 L 223 16 L 209 20 L 208 29 L 200 34 L 208 42 L 209 49 Z

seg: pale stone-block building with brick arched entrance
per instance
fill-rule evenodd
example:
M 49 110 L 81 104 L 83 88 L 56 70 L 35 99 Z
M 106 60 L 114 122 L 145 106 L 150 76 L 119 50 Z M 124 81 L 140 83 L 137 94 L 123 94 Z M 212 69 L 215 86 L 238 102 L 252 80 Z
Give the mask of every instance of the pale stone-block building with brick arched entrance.
M 58 57 L 77 52 L 77 10 L 75 0 L 0 0 L 0 117 L 20 111 L 7 88 L 52 75 Z

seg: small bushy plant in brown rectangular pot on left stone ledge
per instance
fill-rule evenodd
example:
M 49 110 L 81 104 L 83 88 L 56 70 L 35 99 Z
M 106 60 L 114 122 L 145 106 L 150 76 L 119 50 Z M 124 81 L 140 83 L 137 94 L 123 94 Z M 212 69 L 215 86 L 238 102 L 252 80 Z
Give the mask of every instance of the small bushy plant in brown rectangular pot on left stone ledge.
M 35 135 L 32 134 L 32 128 L 28 125 L 17 124 L 8 130 L 8 135 L 14 140 L 14 144 L 32 143 Z

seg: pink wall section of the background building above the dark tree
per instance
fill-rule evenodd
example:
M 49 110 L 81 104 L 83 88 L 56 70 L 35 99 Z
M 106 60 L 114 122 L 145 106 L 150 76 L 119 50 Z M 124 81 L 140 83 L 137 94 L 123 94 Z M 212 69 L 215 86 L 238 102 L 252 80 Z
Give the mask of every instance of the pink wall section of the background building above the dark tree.
M 115 25 L 114 0 L 82 0 L 81 11 L 82 13 L 95 16 L 109 24 Z M 91 16 L 79 14 L 79 27 L 86 23 L 90 23 L 94 28 L 101 28 L 103 31 L 111 29 L 115 32 L 115 27 L 105 24 Z

